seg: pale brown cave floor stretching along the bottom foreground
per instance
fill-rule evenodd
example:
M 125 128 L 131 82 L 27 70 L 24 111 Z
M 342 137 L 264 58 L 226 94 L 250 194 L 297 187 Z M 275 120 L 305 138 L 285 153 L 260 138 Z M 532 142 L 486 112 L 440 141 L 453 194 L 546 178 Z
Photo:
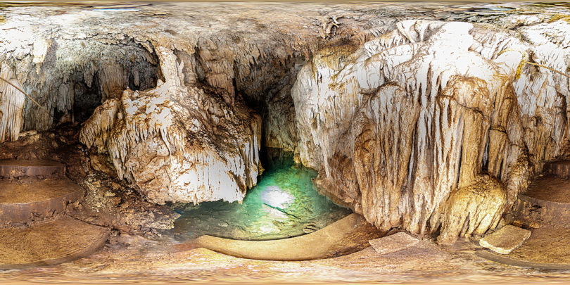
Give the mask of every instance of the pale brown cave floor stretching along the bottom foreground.
M 0 272 L 3 284 L 18 281 L 52 283 L 519 283 L 566 284 L 564 270 L 533 270 L 479 258 L 474 243 L 438 246 L 421 240 L 416 246 L 388 255 L 372 247 L 325 260 L 279 262 L 234 258 L 140 236 L 115 236 L 88 258 L 50 267 Z

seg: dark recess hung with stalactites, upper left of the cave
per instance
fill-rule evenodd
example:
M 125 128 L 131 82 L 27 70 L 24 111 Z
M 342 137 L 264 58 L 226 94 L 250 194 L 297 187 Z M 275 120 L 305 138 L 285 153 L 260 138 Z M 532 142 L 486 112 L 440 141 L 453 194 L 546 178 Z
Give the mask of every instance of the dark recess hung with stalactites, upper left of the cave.
M 87 45 L 91 49 L 85 48 Z M 79 62 L 71 64 L 61 58 L 76 58 Z M 23 70 L 18 72 L 26 72 Z M 103 101 L 119 99 L 125 89 L 151 89 L 158 79 L 164 80 L 156 53 L 132 39 L 119 44 L 86 43 L 81 39 L 52 44 L 45 61 L 35 65 L 35 72 L 27 72 L 25 91 L 51 114 L 27 100 L 23 130 L 82 123 Z

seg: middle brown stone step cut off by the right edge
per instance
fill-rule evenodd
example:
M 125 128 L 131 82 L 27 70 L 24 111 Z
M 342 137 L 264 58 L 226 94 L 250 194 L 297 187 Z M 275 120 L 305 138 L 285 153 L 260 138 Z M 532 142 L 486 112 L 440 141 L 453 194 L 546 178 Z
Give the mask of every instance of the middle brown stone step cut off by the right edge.
M 533 180 L 514 205 L 519 219 L 570 227 L 570 180 L 545 175 Z

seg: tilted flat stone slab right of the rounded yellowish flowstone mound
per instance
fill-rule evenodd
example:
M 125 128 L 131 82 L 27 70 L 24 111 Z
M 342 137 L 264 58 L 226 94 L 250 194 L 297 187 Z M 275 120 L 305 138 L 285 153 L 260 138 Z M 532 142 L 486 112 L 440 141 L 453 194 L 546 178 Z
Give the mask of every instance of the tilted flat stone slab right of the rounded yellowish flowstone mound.
M 531 236 L 531 231 L 507 224 L 493 234 L 479 240 L 479 245 L 495 253 L 509 254 Z

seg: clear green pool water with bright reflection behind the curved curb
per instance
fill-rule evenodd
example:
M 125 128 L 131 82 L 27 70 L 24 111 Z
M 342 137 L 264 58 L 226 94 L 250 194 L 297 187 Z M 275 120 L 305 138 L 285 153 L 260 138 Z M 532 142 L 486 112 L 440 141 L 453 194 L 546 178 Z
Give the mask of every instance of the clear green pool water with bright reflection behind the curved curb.
M 266 170 L 243 203 L 187 204 L 172 234 L 185 241 L 203 234 L 229 239 L 284 239 L 313 232 L 352 213 L 320 195 L 315 170 L 282 163 Z

